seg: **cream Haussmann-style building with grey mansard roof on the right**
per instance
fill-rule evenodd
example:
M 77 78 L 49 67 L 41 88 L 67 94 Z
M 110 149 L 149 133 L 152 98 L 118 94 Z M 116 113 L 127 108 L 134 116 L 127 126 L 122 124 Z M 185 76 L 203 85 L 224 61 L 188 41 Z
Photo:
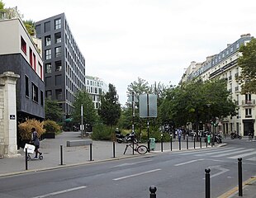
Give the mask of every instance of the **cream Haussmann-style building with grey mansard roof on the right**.
M 231 92 L 232 99 L 238 106 L 238 114 L 219 120 L 218 130 L 222 130 L 224 134 L 238 132 L 242 135 L 248 135 L 249 133 L 254 133 L 255 135 L 256 95 L 240 94 L 241 87 L 235 80 L 241 73 L 241 68 L 237 64 L 239 57 L 242 55 L 239 52 L 239 47 L 246 45 L 252 38 L 249 34 L 241 35 L 239 40 L 227 45 L 225 50 L 222 50 L 219 54 L 207 57 L 200 68 L 197 68 L 197 70 L 187 68 L 186 73 L 183 75 L 182 82 L 193 78 L 201 81 L 214 78 L 224 78 L 226 80 L 227 89 Z M 192 72 L 190 73 L 190 71 Z

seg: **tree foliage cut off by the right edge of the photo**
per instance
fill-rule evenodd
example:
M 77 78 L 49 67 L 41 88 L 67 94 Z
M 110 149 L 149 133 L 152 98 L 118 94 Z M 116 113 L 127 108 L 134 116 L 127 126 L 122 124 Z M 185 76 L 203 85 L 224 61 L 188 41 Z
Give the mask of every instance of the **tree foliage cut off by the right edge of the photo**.
M 238 59 L 242 72 L 236 79 L 241 85 L 241 93 L 256 93 L 256 39 L 241 46 L 239 52 L 243 54 Z

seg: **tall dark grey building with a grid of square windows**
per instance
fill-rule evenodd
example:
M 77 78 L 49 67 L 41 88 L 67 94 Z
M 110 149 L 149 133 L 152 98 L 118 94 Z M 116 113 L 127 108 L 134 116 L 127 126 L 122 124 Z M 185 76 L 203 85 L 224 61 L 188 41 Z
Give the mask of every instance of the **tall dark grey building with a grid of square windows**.
M 36 37 L 42 40 L 45 97 L 58 101 L 69 115 L 75 93 L 85 89 L 85 60 L 64 13 L 37 21 Z

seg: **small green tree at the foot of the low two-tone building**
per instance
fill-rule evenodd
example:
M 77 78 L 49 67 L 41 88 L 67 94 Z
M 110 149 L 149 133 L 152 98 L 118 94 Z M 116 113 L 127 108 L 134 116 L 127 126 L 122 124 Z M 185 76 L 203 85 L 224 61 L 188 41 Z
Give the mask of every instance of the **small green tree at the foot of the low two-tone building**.
M 54 120 L 59 122 L 62 120 L 64 112 L 57 101 L 45 99 L 45 120 Z

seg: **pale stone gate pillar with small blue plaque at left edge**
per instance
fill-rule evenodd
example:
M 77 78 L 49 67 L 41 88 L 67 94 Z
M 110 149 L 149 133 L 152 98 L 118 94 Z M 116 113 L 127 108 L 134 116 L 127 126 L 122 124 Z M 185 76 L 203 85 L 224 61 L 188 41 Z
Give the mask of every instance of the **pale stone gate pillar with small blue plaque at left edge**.
M 0 158 L 17 155 L 17 78 L 13 72 L 0 74 Z

